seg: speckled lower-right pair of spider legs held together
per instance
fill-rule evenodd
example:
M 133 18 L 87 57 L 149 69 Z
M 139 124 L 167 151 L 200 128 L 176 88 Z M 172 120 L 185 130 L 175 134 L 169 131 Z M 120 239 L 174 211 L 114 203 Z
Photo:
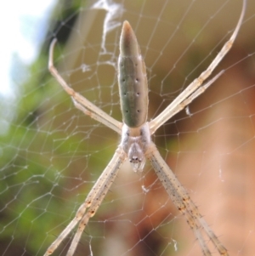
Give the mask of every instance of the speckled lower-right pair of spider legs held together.
M 145 156 L 155 169 L 158 178 L 161 180 L 168 195 L 178 208 L 178 211 L 184 214 L 187 219 L 190 228 L 195 233 L 195 236 L 201 245 L 202 253 L 205 256 L 212 255 L 201 235 L 201 230 L 204 230 L 213 245 L 217 247 L 218 253 L 224 256 L 229 255 L 226 248 L 219 242 L 218 237 L 213 233 L 209 225 L 207 225 L 205 219 L 202 218 L 201 213 L 198 212 L 198 208 L 190 199 L 188 192 L 184 189 L 183 185 L 180 184 L 172 170 L 167 166 L 167 163 L 163 160 L 159 151 L 157 151 L 154 143 L 151 142 L 150 148 L 146 151 Z

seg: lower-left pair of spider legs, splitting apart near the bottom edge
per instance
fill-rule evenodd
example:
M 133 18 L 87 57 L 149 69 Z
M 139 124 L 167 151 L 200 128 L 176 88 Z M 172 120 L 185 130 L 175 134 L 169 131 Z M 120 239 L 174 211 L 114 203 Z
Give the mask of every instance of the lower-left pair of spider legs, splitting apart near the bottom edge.
M 109 162 L 89 192 L 85 202 L 83 202 L 81 207 L 77 210 L 75 218 L 71 220 L 71 223 L 66 226 L 65 230 L 63 230 L 57 239 L 50 245 L 50 247 L 48 247 L 48 250 L 46 253 L 44 253 L 44 256 L 48 256 L 54 253 L 56 248 L 59 247 L 59 244 L 65 239 L 71 230 L 75 228 L 77 223 L 80 222 L 78 225 L 77 233 L 74 236 L 67 253 L 68 256 L 73 255 L 77 248 L 80 237 L 82 236 L 82 231 L 88 224 L 88 220 L 94 216 L 99 206 L 101 205 L 101 202 L 104 200 L 105 195 L 109 191 L 114 179 L 116 178 L 118 170 L 122 166 L 122 163 L 125 161 L 126 157 L 126 153 L 122 150 L 122 147 L 119 146 L 114 156 L 111 158 L 111 162 Z

